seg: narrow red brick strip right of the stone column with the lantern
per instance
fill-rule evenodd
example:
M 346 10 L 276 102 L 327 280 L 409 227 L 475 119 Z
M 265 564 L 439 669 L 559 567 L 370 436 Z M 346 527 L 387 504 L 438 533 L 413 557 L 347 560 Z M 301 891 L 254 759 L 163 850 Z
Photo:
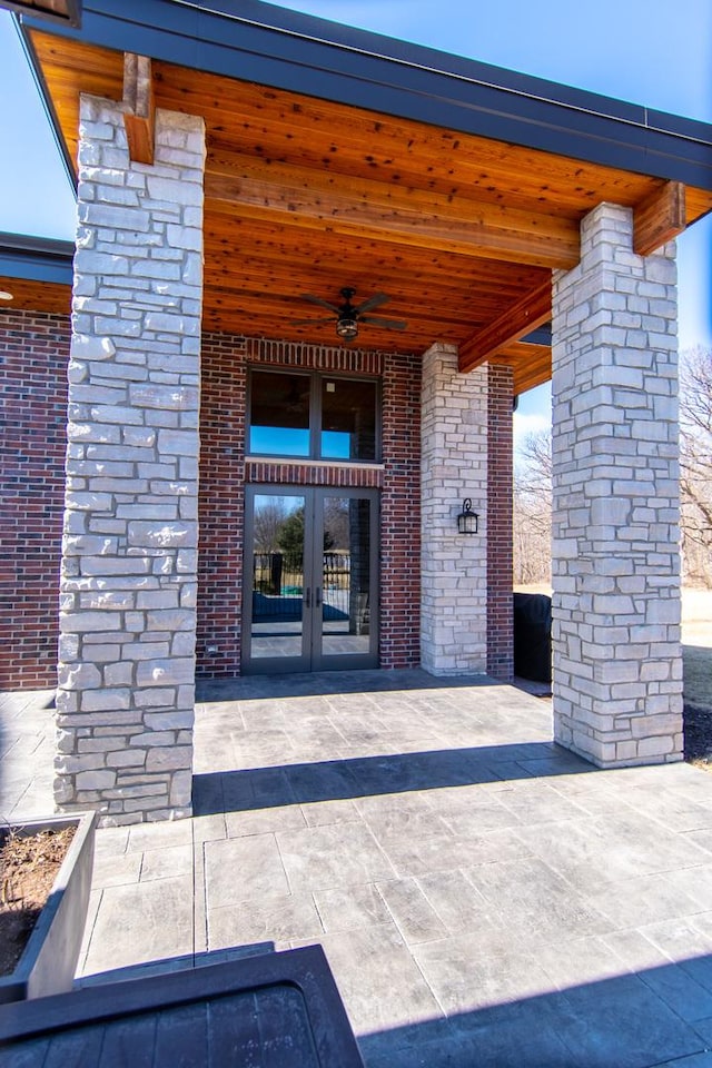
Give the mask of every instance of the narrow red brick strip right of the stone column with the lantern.
M 491 364 L 487 394 L 487 674 L 514 674 L 512 368 Z

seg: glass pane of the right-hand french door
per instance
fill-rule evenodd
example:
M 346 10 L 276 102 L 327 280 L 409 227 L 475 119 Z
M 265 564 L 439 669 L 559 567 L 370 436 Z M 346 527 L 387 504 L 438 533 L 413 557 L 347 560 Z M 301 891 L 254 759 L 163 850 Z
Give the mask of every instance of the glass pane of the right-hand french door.
M 370 643 L 370 501 L 325 497 L 322 651 L 368 653 Z

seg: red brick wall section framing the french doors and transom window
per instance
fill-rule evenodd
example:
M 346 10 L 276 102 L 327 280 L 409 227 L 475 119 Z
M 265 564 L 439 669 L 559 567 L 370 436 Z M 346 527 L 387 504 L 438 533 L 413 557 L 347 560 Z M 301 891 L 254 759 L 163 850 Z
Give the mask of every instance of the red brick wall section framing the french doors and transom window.
M 247 367 L 366 374 L 383 383 L 380 465 L 245 461 Z M 380 665 L 418 663 L 421 360 L 340 346 L 204 335 L 198 674 L 240 668 L 245 484 L 334 485 L 380 494 Z

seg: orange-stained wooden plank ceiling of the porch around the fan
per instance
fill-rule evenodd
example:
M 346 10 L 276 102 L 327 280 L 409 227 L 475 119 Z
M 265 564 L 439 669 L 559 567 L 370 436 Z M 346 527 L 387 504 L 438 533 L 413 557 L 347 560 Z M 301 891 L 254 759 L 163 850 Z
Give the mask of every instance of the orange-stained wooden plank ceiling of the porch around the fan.
M 123 57 L 47 33 L 33 32 L 32 43 L 76 159 L 79 93 L 120 100 Z M 664 185 L 237 79 L 151 68 L 157 107 L 206 121 L 210 330 L 330 343 L 329 323 L 294 323 L 309 317 L 299 295 L 337 303 L 348 285 L 363 298 L 389 294 L 384 314 L 408 323 L 403 333 L 364 326 L 359 347 L 472 344 L 500 323 L 496 359 L 513 363 L 521 386 L 547 366 L 550 374 L 551 357 L 541 346 L 504 344 L 507 309 L 541 294 L 551 268 L 573 266 L 578 222 L 592 207 L 635 207 Z M 688 189 L 685 202 L 692 221 L 712 195 Z

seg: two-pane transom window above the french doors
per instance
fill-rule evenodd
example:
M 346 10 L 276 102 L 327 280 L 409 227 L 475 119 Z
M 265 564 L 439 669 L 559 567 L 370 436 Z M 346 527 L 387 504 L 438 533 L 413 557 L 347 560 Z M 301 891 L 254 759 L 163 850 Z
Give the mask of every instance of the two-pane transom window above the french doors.
M 257 456 L 376 461 L 378 383 L 291 370 L 253 370 L 247 448 Z

